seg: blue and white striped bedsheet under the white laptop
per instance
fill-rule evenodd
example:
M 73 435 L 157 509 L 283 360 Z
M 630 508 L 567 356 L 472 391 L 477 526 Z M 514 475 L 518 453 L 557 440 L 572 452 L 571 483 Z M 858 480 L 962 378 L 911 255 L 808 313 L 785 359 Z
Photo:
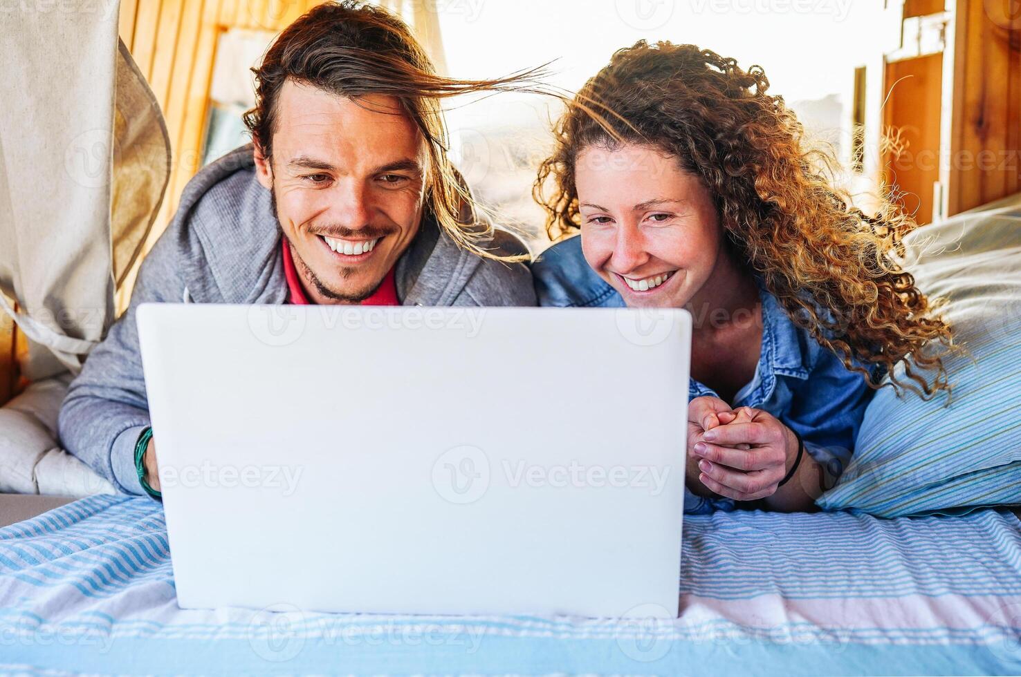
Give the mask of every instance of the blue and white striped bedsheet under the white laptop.
M 93 497 L 0 529 L 0 669 L 1019 674 L 1021 522 L 686 518 L 680 598 L 671 621 L 183 611 L 160 507 Z

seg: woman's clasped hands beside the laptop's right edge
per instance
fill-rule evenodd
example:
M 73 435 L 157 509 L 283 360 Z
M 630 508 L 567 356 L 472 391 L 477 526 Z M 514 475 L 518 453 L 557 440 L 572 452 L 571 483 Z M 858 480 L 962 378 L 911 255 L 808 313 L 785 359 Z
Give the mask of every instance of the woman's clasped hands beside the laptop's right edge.
M 694 440 L 691 451 L 700 459 L 698 480 L 735 501 L 773 496 L 794 463 L 797 437 L 760 409 L 742 407 L 727 418 L 726 424 L 706 430 Z

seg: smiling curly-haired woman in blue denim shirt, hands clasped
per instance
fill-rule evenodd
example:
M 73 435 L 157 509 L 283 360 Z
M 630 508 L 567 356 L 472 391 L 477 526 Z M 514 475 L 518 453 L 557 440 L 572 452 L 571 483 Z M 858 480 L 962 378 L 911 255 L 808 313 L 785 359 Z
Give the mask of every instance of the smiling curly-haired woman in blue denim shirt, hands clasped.
M 950 327 L 894 262 L 913 221 L 852 207 L 768 87 L 638 42 L 570 102 L 535 186 L 550 237 L 581 231 L 535 264 L 543 305 L 692 314 L 689 512 L 809 510 L 896 362 L 893 387 L 949 388 Z

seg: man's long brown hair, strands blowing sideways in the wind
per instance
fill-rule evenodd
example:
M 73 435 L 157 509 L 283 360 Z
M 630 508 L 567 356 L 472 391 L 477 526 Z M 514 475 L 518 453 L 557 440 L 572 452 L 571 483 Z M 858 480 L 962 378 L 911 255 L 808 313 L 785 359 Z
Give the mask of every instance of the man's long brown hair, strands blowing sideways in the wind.
M 394 97 L 428 148 L 427 212 L 460 246 L 500 258 L 485 249 L 491 226 L 479 219 L 479 206 L 447 157 L 449 138 L 440 102 L 467 93 L 538 91 L 541 68 L 486 81 L 443 77 L 398 17 L 364 2 L 344 0 L 318 5 L 294 21 L 252 71 L 255 107 L 244 120 L 268 160 L 273 157 L 277 100 L 287 80 L 355 102 L 373 94 Z

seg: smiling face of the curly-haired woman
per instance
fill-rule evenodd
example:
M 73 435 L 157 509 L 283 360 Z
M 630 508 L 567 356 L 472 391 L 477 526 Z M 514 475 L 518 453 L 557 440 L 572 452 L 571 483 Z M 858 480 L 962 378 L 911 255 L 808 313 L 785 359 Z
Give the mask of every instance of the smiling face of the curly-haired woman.
M 724 258 L 716 207 L 677 158 L 631 144 L 579 153 L 585 260 L 631 307 L 688 305 Z

